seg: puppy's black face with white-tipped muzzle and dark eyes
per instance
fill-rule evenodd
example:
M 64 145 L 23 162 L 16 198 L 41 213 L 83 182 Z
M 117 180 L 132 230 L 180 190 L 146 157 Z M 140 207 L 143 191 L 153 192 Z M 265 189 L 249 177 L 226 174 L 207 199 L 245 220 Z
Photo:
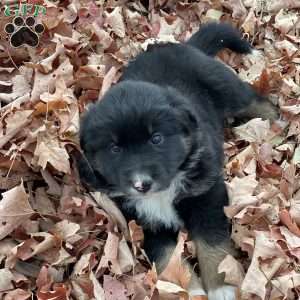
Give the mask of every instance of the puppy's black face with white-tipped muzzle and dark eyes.
M 84 116 L 81 147 L 110 191 L 149 195 L 167 189 L 178 174 L 188 149 L 168 97 L 154 85 L 119 83 Z

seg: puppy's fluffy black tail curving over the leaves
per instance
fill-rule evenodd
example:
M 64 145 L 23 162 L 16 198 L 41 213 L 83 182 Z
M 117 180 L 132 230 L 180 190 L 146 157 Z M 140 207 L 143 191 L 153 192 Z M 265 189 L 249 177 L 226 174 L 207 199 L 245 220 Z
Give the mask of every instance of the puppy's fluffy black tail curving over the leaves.
M 207 23 L 203 25 L 187 42 L 209 56 L 215 56 L 220 50 L 228 48 L 234 52 L 251 52 L 250 44 L 242 40 L 240 32 L 227 23 Z

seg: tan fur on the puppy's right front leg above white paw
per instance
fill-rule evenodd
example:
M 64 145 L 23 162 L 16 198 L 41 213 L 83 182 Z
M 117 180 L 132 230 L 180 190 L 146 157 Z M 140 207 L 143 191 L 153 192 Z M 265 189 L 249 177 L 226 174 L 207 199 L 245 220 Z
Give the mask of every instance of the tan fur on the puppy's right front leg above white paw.
M 201 239 L 194 242 L 205 290 L 217 289 L 224 285 L 224 274 L 218 274 L 218 266 L 228 253 L 233 252 L 229 242 L 228 245 L 224 243 L 215 246 L 210 246 Z

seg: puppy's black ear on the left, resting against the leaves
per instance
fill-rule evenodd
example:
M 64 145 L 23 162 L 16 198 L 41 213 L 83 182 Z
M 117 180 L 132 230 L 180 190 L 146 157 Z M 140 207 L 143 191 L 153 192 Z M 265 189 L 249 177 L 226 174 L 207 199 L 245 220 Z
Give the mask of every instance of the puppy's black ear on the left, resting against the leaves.
M 84 153 L 76 154 L 76 161 L 80 180 L 89 189 L 106 191 L 107 182 L 101 174 L 95 173 Z

